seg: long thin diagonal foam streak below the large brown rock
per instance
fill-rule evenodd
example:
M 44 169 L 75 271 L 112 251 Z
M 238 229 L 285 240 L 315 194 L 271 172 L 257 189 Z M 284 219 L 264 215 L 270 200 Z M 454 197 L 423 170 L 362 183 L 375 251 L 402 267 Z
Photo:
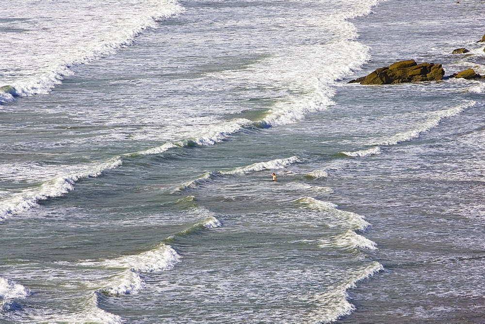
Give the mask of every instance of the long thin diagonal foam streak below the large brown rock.
M 431 112 L 429 113 L 431 118 L 421 123 L 418 128 L 398 133 L 389 138 L 369 143 L 368 145 L 396 145 L 400 142 L 409 141 L 413 138 L 417 138 L 420 136 L 421 133 L 438 126 L 439 122 L 443 118 L 458 115 L 463 112 L 463 110 L 475 105 L 475 103 L 475 101 L 467 100 L 466 102 L 453 106 L 451 108 Z

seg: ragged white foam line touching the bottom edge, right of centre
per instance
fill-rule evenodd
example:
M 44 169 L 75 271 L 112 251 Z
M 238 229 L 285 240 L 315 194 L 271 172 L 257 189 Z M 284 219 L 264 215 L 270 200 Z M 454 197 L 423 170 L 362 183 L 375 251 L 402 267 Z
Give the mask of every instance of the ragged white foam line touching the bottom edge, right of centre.
M 312 301 L 321 305 L 311 316 L 312 323 L 330 323 L 340 317 L 349 315 L 355 306 L 349 302 L 348 290 L 355 288 L 356 283 L 384 270 L 379 262 L 372 262 L 368 266 L 355 271 L 352 276 L 342 282 L 335 289 L 315 295 Z

